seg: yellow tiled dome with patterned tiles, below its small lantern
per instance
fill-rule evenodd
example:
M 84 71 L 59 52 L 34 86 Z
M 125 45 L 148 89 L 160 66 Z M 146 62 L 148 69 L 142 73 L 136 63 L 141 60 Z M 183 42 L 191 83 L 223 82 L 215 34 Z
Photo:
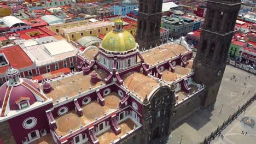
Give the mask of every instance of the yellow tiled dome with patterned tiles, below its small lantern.
M 136 42 L 127 31 L 111 31 L 103 38 L 101 48 L 106 51 L 125 52 L 135 49 Z

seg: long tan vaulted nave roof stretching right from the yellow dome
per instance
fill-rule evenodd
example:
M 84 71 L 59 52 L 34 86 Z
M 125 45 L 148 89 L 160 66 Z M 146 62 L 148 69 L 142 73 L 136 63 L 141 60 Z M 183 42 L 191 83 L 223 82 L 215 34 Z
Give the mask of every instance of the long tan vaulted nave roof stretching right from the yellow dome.
M 142 53 L 145 62 L 151 65 L 158 64 L 158 62 L 164 61 L 164 59 L 170 59 L 175 57 L 182 52 L 188 52 L 188 50 L 180 44 L 166 44 L 159 48 L 150 50 L 149 52 Z

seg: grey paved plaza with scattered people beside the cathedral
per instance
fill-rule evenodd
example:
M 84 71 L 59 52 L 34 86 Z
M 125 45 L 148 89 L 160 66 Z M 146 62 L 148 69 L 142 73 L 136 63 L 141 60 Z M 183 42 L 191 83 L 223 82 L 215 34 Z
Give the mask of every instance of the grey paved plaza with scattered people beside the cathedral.
M 236 76 L 236 82 L 235 80 L 230 80 L 231 76 Z M 246 79 L 250 75 L 250 78 Z M 246 83 L 246 86 L 245 86 Z M 254 93 L 256 93 L 256 76 L 247 73 L 246 71 L 234 68 L 230 65 L 226 66 L 225 73 L 223 76 L 222 84 L 219 89 L 217 101 L 215 104 L 214 109 L 205 109 L 200 110 L 194 113 L 189 118 L 185 119 L 184 122 L 179 125 L 179 127 L 176 128 L 176 130 L 172 131 L 172 134 L 168 137 L 164 138 L 164 141 L 166 143 L 170 144 L 177 144 L 181 141 L 181 135 L 183 135 L 182 143 L 199 143 L 205 139 L 205 136 L 208 136 L 212 133 L 212 131 L 216 130 L 218 125 L 221 125 L 228 117 L 235 112 L 235 110 L 238 109 L 238 106 L 242 106 L 242 104 L 246 103 L 246 101 L 253 96 Z M 243 92 L 245 93 L 243 94 Z M 223 108 L 222 108 L 223 107 Z M 254 102 L 250 107 L 248 107 L 248 110 L 246 111 L 246 115 L 243 113 L 243 115 L 240 116 L 249 116 L 256 122 L 256 102 Z M 252 109 L 249 111 L 249 109 Z M 221 113 L 220 113 L 220 110 Z M 248 112 L 248 113 L 247 113 Z M 254 114 L 253 114 L 254 112 Z M 240 118 L 240 117 L 239 117 Z M 238 118 L 238 120 L 239 120 Z M 237 120 L 236 120 L 237 121 Z M 238 123 L 239 121 L 237 121 Z M 239 125 L 239 124 L 237 124 Z M 215 143 L 236 143 L 236 144 L 251 144 L 251 142 L 256 141 L 256 136 L 253 136 L 256 134 L 255 128 L 248 128 L 249 135 L 251 136 L 249 138 L 240 139 L 236 135 L 241 133 L 241 130 L 243 128 L 246 128 L 246 126 L 241 125 L 238 127 L 237 125 L 229 125 L 228 128 L 225 130 L 232 129 L 231 131 L 226 131 L 223 133 L 223 135 L 226 137 L 224 141 L 222 140 L 216 140 Z M 231 127 L 231 128 L 230 128 Z M 243 137 L 243 136 L 241 136 Z M 249 137 L 249 136 L 248 136 Z M 236 140 L 236 139 L 239 139 Z M 214 143 L 211 142 L 211 143 Z

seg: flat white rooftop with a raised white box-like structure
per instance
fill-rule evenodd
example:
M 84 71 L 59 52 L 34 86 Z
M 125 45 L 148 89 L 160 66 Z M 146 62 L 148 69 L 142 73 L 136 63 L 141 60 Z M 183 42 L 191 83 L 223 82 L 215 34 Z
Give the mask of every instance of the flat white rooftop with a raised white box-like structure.
M 75 56 L 77 53 L 77 49 L 67 43 L 66 40 L 28 46 L 24 50 L 36 62 L 37 66 L 62 61 L 67 57 Z

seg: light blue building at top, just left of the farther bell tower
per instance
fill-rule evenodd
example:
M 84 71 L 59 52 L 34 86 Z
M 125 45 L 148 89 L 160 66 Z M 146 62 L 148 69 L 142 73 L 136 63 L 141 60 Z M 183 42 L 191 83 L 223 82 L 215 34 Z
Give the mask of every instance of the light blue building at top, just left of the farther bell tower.
M 133 9 L 138 8 L 138 3 L 131 3 L 130 0 L 124 0 L 121 5 L 114 5 L 110 7 L 113 11 L 113 15 L 123 15 L 125 16 L 128 13 L 131 13 Z

